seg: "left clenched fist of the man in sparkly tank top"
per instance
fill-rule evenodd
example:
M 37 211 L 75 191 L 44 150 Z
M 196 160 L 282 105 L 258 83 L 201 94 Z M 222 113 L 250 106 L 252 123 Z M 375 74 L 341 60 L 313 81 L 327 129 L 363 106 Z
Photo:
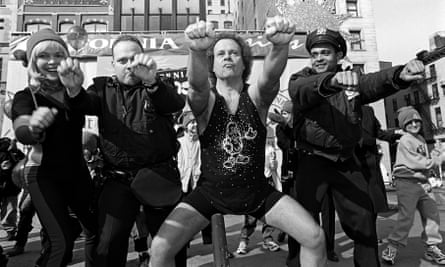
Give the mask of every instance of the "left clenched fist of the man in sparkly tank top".
M 195 51 L 206 51 L 215 40 L 213 24 L 202 20 L 189 25 L 184 33 L 190 40 L 190 49 Z

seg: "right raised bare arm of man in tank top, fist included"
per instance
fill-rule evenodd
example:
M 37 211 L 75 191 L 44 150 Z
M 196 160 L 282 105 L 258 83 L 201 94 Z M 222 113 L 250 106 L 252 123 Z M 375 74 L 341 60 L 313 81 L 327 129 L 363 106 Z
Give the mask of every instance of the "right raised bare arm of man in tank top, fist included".
M 249 95 L 260 116 L 266 118 L 268 109 L 280 89 L 280 77 L 287 64 L 289 43 L 295 35 L 295 25 L 283 17 L 268 18 L 265 36 L 272 49 L 264 58 L 263 73 L 257 84 L 249 87 Z M 262 114 L 263 113 L 263 114 Z

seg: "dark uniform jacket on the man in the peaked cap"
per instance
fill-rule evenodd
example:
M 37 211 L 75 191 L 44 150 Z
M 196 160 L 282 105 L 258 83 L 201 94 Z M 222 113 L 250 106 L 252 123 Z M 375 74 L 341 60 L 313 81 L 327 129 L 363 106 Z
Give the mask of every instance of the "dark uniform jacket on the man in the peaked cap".
M 291 76 L 294 128 L 299 149 L 333 161 L 346 160 L 362 136 L 361 105 L 409 86 L 398 78 L 401 66 L 359 77 L 359 95 L 348 99 L 342 88 L 329 84 L 334 72 L 317 74 L 306 67 Z

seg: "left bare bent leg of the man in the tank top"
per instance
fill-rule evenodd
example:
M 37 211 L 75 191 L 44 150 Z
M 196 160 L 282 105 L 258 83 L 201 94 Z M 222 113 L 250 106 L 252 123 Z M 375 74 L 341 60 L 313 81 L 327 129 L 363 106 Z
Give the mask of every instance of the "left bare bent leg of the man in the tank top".
M 195 208 L 179 203 L 153 238 L 150 267 L 175 267 L 176 253 L 208 224 Z

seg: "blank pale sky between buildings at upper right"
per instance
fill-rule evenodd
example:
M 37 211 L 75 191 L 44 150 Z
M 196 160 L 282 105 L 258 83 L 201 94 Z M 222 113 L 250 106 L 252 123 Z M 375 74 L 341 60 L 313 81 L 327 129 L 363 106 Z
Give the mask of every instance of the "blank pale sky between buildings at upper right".
M 379 60 L 404 64 L 445 31 L 445 0 L 371 0 Z

